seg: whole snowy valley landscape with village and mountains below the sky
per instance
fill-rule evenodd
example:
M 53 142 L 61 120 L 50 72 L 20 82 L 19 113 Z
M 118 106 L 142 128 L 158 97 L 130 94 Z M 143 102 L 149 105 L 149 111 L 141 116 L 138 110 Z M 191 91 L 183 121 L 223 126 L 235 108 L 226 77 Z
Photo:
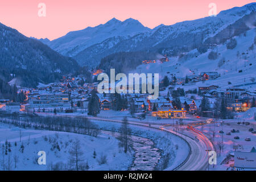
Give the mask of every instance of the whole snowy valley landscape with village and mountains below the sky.
M 0 23 L 0 170 L 255 171 L 255 9 L 54 40 Z

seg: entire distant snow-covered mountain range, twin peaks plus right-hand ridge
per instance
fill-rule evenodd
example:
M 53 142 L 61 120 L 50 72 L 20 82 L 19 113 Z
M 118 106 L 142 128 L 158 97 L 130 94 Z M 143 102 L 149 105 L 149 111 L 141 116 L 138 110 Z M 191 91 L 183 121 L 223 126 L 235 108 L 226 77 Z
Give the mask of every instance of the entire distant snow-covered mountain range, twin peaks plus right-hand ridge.
M 138 20 L 131 18 L 123 22 L 113 18 L 105 24 L 72 31 L 61 38 L 44 43 L 62 55 L 73 57 L 80 65 L 88 67 L 96 67 L 103 57 L 117 52 L 152 51 L 177 56 L 201 48 L 205 43 L 209 44 L 210 38 L 230 24 L 255 12 L 255 9 L 256 3 L 250 3 L 221 11 L 217 16 L 207 16 L 170 26 L 160 24 L 153 29 L 144 27 Z

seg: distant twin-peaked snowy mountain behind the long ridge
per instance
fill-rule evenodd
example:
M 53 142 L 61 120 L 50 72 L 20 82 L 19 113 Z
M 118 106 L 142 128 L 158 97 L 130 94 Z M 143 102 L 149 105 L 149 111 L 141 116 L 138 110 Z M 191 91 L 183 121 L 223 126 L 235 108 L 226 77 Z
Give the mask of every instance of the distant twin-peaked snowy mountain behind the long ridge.
M 69 32 L 61 38 L 48 42 L 47 45 L 63 55 L 75 56 L 85 48 L 101 43 L 106 39 L 115 36 L 129 38 L 147 31 L 150 31 L 150 28 L 144 27 L 138 20 L 130 18 L 121 22 L 113 18 L 96 27 L 87 27 L 84 30 Z

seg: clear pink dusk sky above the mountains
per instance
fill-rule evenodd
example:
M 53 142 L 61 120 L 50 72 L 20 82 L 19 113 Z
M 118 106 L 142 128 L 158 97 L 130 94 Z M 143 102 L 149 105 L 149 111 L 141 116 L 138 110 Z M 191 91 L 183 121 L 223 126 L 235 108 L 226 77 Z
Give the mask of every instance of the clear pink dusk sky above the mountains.
M 0 23 L 35 38 L 59 38 L 69 31 L 104 24 L 112 18 L 133 18 L 144 26 L 174 24 L 208 16 L 209 3 L 217 13 L 250 0 L 1 0 Z M 46 17 L 38 16 L 38 4 L 46 4 Z

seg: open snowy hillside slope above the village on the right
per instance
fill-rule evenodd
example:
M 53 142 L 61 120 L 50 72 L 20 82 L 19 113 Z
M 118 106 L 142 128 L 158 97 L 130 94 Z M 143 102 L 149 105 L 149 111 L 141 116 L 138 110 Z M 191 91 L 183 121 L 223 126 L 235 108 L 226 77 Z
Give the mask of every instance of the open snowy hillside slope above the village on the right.
M 185 84 L 185 90 L 195 89 L 198 86 L 218 85 L 222 88 L 231 86 L 242 86 L 243 88 L 256 88 L 256 85 L 245 85 L 255 82 L 256 77 L 256 58 L 255 58 L 255 32 L 256 28 L 246 31 L 245 34 L 235 36 L 237 46 L 233 49 L 228 49 L 226 44 L 220 44 L 217 47 L 208 49 L 205 53 L 199 53 L 197 49 L 193 49 L 183 56 L 169 57 L 167 63 L 151 63 L 140 65 L 133 72 L 142 73 L 159 73 L 159 79 L 164 76 L 171 78 L 171 75 L 176 77 L 185 77 L 192 75 L 200 75 L 201 72 L 218 72 L 220 77 L 216 80 L 199 81 L 194 84 Z M 251 49 L 254 45 L 254 49 Z M 208 58 L 210 52 L 217 52 L 217 58 L 210 60 Z M 181 86 L 181 85 L 180 85 Z

